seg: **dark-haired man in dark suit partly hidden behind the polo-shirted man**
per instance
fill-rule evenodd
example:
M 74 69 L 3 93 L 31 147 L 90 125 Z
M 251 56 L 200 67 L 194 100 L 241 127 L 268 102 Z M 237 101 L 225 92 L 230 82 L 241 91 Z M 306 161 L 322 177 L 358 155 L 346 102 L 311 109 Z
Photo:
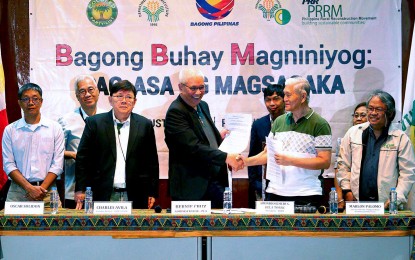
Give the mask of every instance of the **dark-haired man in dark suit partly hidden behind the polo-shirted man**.
M 285 112 L 284 86 L 272 84 L 263 92 L 269 114 L 255 120 L 252 124 L 249 157 L 259 154 L 264 149 L 265 137 L 271 131 L 272 122 Z M 255 201 L 262 198 L 262 165 L 248 167 L 248 177 L 248 205 L 250 208 L 255 208 Z

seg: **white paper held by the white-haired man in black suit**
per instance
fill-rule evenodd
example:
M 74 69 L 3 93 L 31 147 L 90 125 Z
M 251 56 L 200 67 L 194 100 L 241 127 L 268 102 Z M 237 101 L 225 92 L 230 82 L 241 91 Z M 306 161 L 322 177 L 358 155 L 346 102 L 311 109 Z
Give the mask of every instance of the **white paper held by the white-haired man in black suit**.
M 226 114 L 225 124 L 230 133 L 219 146 L 219 150 L 226 153 L 242 153 L 249 143 L 252 115 Z

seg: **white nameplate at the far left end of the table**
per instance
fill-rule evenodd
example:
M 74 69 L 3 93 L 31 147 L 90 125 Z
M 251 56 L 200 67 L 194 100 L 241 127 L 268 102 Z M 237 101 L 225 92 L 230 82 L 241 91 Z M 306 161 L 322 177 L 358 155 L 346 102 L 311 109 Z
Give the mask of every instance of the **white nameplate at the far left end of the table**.
M 4 204 L 4 215 L 42 215 L 44 210 L 44 201 L 6 201 Z

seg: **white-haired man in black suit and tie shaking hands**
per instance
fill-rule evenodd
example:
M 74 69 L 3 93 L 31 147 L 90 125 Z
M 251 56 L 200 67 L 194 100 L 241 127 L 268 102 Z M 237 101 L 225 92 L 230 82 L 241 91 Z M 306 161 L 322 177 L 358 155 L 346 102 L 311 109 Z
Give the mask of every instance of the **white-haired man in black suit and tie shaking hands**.
M 208 104 L 202 101 L 203 73 L 183 69 L 179 82 L 180 95 L 167 110 L 165 122 L 170 195 L 173 200 L 210 200 L 212 208 L 222 208 L 224 187 L 228 185 L 226 164 L 240 169 L 243 162 L 236 154 L 218 149 L 225 132 L 219 133 Z

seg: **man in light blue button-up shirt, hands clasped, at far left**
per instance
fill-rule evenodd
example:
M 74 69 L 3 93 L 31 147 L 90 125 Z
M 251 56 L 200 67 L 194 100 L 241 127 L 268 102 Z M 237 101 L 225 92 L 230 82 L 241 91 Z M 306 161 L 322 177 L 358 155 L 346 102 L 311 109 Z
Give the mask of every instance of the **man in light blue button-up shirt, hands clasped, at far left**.
M 3 133 L 3 169 L 12 179 L 6 201 L 44 201 L 62 173 L 64 137 L 61 126 L 44 116 L 42 89 L 23 85 L 18 93 L 23 118 L 9 124 Z

